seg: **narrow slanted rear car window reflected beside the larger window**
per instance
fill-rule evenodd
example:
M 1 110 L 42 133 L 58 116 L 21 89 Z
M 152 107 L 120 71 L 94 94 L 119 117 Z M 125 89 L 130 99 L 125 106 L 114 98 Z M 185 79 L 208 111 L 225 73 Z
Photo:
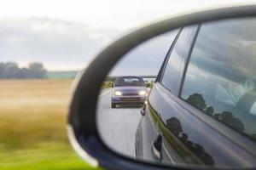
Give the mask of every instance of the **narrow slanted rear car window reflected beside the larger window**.
M 194 37 L 193 32 L 196 28 L 196 26 L 183 28 L 166 62 L 166 69 L 163 73 L 161 84 L 173 94 L 178 94 L 183 77 L 185 58 L 189 54 L 189 48 Z

